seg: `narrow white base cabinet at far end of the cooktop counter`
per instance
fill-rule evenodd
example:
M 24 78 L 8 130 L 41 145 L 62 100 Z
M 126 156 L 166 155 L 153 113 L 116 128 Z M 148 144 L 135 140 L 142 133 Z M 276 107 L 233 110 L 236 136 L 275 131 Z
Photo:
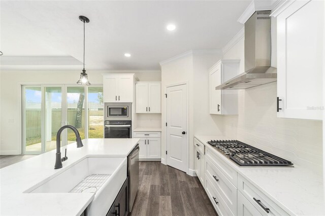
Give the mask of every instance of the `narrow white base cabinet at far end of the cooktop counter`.
M 205 146 L 196 138 L 194 138 L 194 146 L 196 149 L 195 172 L 201 184 L 205 185 Z

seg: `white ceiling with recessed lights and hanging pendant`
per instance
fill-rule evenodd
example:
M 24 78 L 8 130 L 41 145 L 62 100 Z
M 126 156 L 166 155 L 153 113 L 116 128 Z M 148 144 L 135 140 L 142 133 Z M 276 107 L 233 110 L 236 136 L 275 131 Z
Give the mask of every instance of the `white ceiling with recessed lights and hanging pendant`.
M 188 50 L 221 49 L 243 27 L 237 19 L 250 2 L 1 1 L 0 50 L 17 59 L 7 68 L 25 64 L 22 57 L 46 58 L 40 69 L 55 68 L 57 57 L 82 62 L 78 16 L 84 15 L 90 19 L 86 69 L 159 69 L 160 61 Z M 167 31 L 169 23 L 176 24 L 175 31 Z M 80 68 L 79 61 L 60 68 Z

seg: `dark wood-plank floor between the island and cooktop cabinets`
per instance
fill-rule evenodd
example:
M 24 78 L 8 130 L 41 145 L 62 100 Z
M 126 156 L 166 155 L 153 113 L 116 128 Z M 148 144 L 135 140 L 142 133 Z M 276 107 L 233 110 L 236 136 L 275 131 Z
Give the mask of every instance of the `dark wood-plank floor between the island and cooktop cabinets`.
M 198 177 L 160 161 L 141 161 L 139 175 L 132 216 L 217 215 Z

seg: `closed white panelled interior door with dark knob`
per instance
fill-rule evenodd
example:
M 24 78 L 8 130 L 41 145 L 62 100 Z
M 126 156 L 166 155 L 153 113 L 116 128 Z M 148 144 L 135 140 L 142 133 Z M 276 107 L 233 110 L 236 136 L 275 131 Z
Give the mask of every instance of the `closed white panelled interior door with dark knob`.
M 186 85 L 167 88 L 167 165 L 186 172 Z

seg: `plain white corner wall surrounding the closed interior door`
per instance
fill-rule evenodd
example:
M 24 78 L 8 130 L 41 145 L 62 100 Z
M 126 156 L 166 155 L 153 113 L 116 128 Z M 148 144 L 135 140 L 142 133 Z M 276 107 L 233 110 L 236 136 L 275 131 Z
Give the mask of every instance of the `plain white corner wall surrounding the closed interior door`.
M 161 65 L 161 88 L 163 95 L 166 86 L 188 82 L 188 146 L 189 169 L 194 169 L 194 134 L 222 134 L 222 117 L 209 114 L 209 74 L 208 69 L 215 64 L 221 54 L 196 54 L 193 52 L 185 57 L 175 59 Z M 161 152 L 166 151 L 165 100 L 161 101 Z M 162 161 L 166 155 L 162 154 Z

